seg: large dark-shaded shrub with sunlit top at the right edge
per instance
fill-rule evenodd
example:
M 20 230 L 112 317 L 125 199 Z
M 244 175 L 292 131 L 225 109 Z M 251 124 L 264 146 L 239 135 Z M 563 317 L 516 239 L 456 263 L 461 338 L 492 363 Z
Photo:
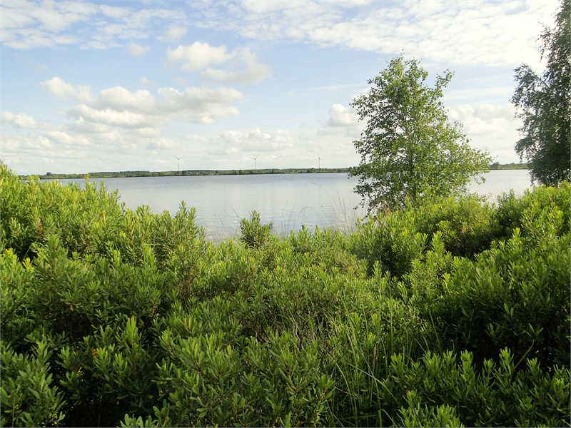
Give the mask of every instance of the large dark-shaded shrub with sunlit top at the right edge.
M 509 347 L 517 360 L 537 357 L 543 365 L 568 365 L 569 262 L 569 235 L 537 250 L 525 245 L 516 229 L 510 240 L 473 263 L 451 260 L 438 281 L 438 297 L 420 307 L 438 324 L 442 340 L 474 352 L 478 360 Z M 427 265 L 418 265 L 416 277 L 429 272 Z

